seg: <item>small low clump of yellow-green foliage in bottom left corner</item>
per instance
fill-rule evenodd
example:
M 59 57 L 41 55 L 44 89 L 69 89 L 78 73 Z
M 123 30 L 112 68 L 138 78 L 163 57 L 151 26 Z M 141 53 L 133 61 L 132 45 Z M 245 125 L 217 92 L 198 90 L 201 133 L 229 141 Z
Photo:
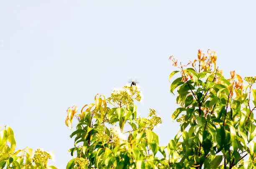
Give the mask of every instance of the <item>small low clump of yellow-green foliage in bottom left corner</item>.
M 2 126 L 3 127 L 3 126 Z M 0 169 L 57 169 L 54 166 L 47 166 L 51 155 L 43 149 L 24 148 L 16 150 L 16 141 L 13 129 L 4 126 L 0 127 Z

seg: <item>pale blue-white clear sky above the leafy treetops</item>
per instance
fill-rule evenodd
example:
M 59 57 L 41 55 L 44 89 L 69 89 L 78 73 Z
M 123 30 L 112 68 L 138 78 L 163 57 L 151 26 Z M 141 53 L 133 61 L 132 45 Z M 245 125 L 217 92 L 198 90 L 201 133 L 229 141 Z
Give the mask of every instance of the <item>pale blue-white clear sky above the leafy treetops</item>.
M 110 96 L 130 78 L 144 95 L 138 115 L 156 109 L 161 145 L 179 130 L 169 91 L 170 55 L 187 63 L 197 50 L 217 65 L 255 76 L 256 10 L 251 1 L 0 0 L 0 126 L 13 128 L 17 149 L 55 152 L 66 168 L 74 146 L 67 107 Z

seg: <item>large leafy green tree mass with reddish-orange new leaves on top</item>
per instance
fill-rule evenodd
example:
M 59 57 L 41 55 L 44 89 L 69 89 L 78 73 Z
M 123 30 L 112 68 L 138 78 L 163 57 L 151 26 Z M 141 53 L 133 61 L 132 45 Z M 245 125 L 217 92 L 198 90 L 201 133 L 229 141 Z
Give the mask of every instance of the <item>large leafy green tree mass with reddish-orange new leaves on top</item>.
M 75 158 L 67 169 L 256 166 L 256 89 L 252 88 L 256 77 L 246 77 L 248 85 L 244 85 L 241 76 L 231 71 L 231 78 L 225 79 L 216 67 L 216 53 L 210 50 L 206 55 L 198 50 L 198 58 L 187 65 L 178 65 L 173 56 L 169 59 L 179 69 L 169 79 L 180 73 L 170 87 L 173 94 L 177 89 L 179 105 L 172 119 L 181 127 L 174 139 L 167 146 L 159 145 L 153 129 L 161 118 L 154 109 L 146 118 L 137 117 L 134 100 L 141 100 L 140 90 L 125 86 L 108 99 L 97 94 L 95 103 L 86 104 L 79 114 L 76 106 L 67 109 L 66 125 L 72 128 L 73 118 L 78 120 L 70 135 L 75 144 L 69 151 Z

